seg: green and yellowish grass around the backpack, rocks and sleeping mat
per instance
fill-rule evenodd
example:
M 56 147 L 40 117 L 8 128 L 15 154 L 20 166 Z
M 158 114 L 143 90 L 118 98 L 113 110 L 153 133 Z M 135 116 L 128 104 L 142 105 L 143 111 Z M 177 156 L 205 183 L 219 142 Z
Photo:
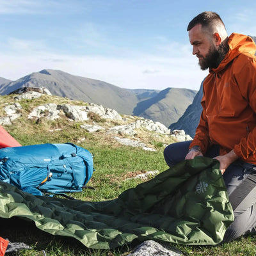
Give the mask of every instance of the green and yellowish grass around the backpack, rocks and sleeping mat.
M 47 98 L 48 97 L 48 98 Z M 37 100 L 23 100 L 20 104 L 22 117 L 13 125 L 5 127 L 14 138 L 22 145 L 40 143 L 65 143 L 72 142 L 92 152 L 94 157 L 95 172 L 88 186 L 95 190 L 84 189 L 82 193 L 73 194 L 77 199 L 86 201 L 104 201 L 116 198 L 120 193 L 129 188 L 134 188 L 143 180 L 131 179 L 138 173 L 152 170 L 163 172 L 168 168 L 163 159 L 164 144 L 172 143 L 170 136 L 154 136 L 145 131 L 138 131 L 134 140 L 147 143 L 148 147 L 156 148 L 156 152 L 148 152 L 141 148 L 126 147 L 118 144 L 106 132 L 95 132 L 90 134 L 80 128 L 79 123 L 70 122 L 65 116 L 56 121 L 28 120 L 27 116 L 33 106 L 49 102 L 49 96 Z M 12 102 L 10 97 L 0 97 L 0 106 L 3 109 L 4 102 Z M 72 104 L 71 100 L 54 97 L 54 102 Z M 77 103 L 77 102 L 76 102 Z M 78 102 L 77 104 L 83 104 Z M 0 112 L 3 116 L 4 112 Z M 102 120 L 97 115 L 90 114 L 92 121 L 97 120 L 100 125 L 110 127 L 111 121 Z M 131 118 L 134 119 L 134 118 Z M 50 132 L 51 131 L 51 132 Z M 29 250 L 21 250 L 14 255 L 19 256 L 125 256 L 131 252 L 135 244 L 126 245 L 115 250 L 92 250 L 85 248 L 75 239 L 67 237 L 52 236 L 38 230 L 34 223 L 17 219 L 0 220 L 0 236 L 8 238 L 12 242 L 23 242 L 29 244 Z M 241 237 L 230 243 L 218 246 L 182 246 L 179 244 L 167 244 L 167 248 L 174 246 L 184 255 L 256 255 L 256 236 Z

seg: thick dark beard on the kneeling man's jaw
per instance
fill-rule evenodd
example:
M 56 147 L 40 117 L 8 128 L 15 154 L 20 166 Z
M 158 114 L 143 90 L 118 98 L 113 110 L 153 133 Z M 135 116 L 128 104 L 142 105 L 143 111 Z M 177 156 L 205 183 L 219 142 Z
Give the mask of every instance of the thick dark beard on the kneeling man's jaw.
M 219 49 L 215 49 L 214 45 L 211 46 L 209 52 L 205 57 L 199 59 L 199 65 L 202 70 L 207 70 L 207 68 L 217 68 L 221 61 L 225 58 L 227 51 L 221 44 Z M 199 57 L 202 57 L 199 55 Z

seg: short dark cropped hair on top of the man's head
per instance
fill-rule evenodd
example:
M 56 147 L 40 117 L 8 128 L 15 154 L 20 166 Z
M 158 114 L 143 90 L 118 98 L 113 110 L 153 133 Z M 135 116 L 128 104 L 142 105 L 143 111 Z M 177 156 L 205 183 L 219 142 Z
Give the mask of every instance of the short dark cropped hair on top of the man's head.
M 211 28 L 216 24 L 222 24 L 225 28 L 223 21 L 216 12 L 202 12 L 198 14 L 191 22 L 188 24 L 187 31 L 194 28 L 197 24 L 201 24 L 202 28 Z

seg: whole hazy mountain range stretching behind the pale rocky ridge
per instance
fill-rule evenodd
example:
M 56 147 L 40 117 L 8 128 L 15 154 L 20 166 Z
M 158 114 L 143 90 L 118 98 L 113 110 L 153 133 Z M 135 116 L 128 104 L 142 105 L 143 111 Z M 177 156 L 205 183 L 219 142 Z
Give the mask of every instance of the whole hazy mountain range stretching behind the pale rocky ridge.
M 195 96 L 195 91 L 187 89 L 124 89 L 103 81 L 51 69 L 1 84 L 0 94 L 7 95 L 22 87 L 45 87 L 52 95 L 100 104 L 116 109 L 118 113 L 143 116 L 166 126 L 179 119 Z

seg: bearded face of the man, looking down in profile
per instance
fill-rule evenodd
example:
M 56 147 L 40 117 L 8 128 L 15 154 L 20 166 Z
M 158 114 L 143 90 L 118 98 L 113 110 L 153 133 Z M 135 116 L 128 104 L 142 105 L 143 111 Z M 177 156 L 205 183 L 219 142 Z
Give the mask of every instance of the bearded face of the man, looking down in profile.
M 219 52 L 209 35 L 202 31 L 202 25 L 198 24 L 189 30 L 189 41 L 193 45 L 193 55 L 199 60 L 202 70 L 218 67 Z

